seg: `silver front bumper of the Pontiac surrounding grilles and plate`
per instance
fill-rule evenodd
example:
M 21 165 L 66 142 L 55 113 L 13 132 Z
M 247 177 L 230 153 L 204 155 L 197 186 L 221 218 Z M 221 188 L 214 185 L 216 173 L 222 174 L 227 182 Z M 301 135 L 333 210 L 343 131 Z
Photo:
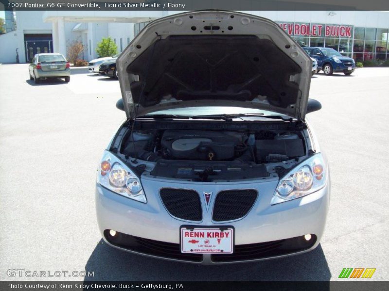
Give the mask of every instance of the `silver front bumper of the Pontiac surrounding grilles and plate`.
M 115 194 L 99 184 L 96 185 L 97 221 L 104 240 L 113 247 L 133 253 L 192 263 L 220 264 L 254 261 L 310 251 L 320 242 L 329 206 L 329 181 L 323 189 L 313 194 L 276 205 L 270 205 L 270 200 L 278 183 L 277 178 L 266 181 L 207 183 L 175 182 L 142 177 L 141 182 L 147 197 L 146 204 Z M 244 218 L 223 223 L 212 221 L 212 206 L 216 195 L 213 195 L 211 199 L 209 211 L 206 210 L 202 199 L 203 220 L 195 223 L 179 220 L 167 212 L 159 196 L 159 189 L 167 186 L 192 189 L 200 194 L 203 191 L 212 191 L 217 194 L 222 190 L 256 189 L 259 195 L 252 209 Z M 305 234 L 312 234 L 315 241 L 305 248 L 292 248 L 289 252 L 284 252 L 284 249 L 279 252 L 275 250 L 272 253 L 264 253 L 264 256 L 254 254 L 250 257 L 236 256 L 220 260 L 214 257 L 215 255 L 203 254 L 201 258 L 188 259 L 185 256 L 180 256 L 179 251 L 179 229 L 183 225 L 233 226 L 235 228 L 235 249 L 257 247 L 263 250 L 265 245 L 280 241 L 289 243 L 288 239 L 303 237 Z M 123 234 L 124 241 L 128 242 L 128 245 L 133 245 L 131 240 L 138 240 L 138 242 L 140 240 L 140 244 L 147 246 L 151 243 L 155 249 L 160 251 L 148 252 L 144 248 L 125 247 L 124 241 L 116 243 L 110 240 L 108 237 L 110 229 Z M 166 248 L 174 250 L 175 255 L 172 256 L 164 251 Z

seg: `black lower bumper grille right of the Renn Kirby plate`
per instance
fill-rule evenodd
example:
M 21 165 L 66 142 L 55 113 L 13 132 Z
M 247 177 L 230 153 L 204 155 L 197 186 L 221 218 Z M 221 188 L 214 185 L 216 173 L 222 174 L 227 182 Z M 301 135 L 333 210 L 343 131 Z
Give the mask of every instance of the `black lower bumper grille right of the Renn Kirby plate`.
M 317 237 L 314 234 L 311 236 L 312 238 L 309 241 L 306 241 L 304 236 L 300 236 L 272 242 L 235 245 L 234 252 L 232 254 L 214 254 L 211 255 L 211 259 L 213 262 L 231 262 L 250 259 L 265 259 L 297 253 L 307 250 L 315 244 Z

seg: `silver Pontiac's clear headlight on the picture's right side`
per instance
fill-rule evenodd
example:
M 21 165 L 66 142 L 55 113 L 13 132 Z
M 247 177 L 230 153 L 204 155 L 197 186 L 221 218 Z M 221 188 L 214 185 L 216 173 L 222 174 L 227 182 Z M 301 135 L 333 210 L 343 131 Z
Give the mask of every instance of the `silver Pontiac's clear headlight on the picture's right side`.
M 278 183 L 271 205 L 312 194 L 327 183 L 327 170 L 321 154 L 299 164 Z

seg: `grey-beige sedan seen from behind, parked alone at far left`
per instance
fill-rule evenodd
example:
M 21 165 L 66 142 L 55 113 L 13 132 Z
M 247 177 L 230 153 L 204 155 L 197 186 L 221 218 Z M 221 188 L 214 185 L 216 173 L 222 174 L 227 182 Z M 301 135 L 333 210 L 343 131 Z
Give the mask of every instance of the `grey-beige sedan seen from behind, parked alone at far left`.
M 70 81 L 70 63 L 60 53 L 38 53 L 28 67 L 30 80 L 39 83 L 47 78 L 64 78 Z

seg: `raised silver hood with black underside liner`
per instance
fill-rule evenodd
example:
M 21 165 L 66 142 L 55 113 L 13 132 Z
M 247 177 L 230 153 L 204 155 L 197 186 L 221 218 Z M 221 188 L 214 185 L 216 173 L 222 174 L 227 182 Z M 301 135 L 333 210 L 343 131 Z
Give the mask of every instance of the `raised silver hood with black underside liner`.
M 229 11 L 159 18 L 116 64 L 127 118 L 196 106 L 305 117 L 312 60 L 266 18 Z

